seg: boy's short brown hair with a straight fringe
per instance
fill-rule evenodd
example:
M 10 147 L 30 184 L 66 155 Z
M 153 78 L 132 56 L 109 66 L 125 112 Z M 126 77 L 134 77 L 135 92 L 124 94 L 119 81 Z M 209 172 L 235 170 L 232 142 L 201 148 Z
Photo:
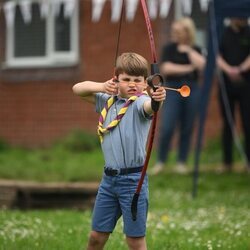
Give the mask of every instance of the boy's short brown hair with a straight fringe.
M 149 75 L 148 61 L 136 53 L 123 53 L 116 60 L 115 75 L 118 77 L 122 73 L 146 79 Z

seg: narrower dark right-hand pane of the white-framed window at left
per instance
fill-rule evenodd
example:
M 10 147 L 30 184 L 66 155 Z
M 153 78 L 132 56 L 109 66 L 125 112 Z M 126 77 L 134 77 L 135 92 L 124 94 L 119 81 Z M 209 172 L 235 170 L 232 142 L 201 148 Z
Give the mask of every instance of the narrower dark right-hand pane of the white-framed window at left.
M 70 50 L 70 18 L 64 17 L 64 5 L 62 4 L 60 13 L 55 18 L 55 50 Z

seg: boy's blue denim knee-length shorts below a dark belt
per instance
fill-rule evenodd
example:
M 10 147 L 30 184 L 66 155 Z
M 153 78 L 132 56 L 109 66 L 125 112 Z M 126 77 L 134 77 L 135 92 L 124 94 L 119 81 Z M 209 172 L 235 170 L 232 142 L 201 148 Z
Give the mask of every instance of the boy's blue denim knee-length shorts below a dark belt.
M 141 173 L 103 175 L 93 210 L 92 230 L 112 233 L 118 219 L 123 217 L 123 232 L 128 237 L 143 237 L 148 212 L 148 177 L 145 176 L 138 199 L 137 219 L 132 220 L 131 202 Z

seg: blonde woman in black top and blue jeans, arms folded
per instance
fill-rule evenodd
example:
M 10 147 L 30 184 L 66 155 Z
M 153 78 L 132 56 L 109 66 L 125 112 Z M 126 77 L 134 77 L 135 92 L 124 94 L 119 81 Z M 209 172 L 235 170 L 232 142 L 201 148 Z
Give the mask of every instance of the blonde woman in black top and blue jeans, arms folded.
M 179 131 L 176 171 L 187 172 L 186 162 L 194 121 L 198 110 L 200 87 L 199 73 L 205 66 L 201 49 L 195 45 L 196 28 L 192 19 L 185 17 L 175 21 L 171 26 L 171 43 L 163 48 L 161 56 L 161 73 L 166 85 L 180 88 L 187 84 L 191 89 L 188 98 L 169 91 L 161 111 L 161 125 L 157 151 L 157 162 L 152 174 L 158 174 L 167 160 L 172 136 Z

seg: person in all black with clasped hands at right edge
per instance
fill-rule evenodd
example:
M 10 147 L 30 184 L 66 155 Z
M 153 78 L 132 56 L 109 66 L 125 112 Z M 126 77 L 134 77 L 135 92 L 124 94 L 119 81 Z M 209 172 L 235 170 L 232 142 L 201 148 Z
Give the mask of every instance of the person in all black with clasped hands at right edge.
M 250 169 L 250 27 L 247 19 L 232 18 L 225 28 L 220 42 L 220 54 L 217 59 L 225 83 L 228 99 L 228 111 L 235 120 L 235 107 L 239 105 L 243 126 L 245 152 Z M 223 170 L 231 170 L 233 164 L 233 134 L 226 108 L 219 92 L 219 101 L 223 119 L 222 148 Z

